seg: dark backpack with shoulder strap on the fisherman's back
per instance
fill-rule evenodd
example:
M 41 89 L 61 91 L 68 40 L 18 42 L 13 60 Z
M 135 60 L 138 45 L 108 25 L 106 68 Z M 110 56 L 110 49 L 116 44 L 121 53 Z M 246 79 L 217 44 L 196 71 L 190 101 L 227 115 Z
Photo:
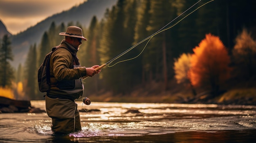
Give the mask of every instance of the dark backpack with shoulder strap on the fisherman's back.
M 58 48 L 65 48 L 65 47 L 58 47 Z M 50 58 L 52 56 L 52 53 L 58 49 L 57 47 L 53 47 L 52 51 L 45 55 L 45 59 L 43 63 L 38 68 L 38 87 L 40 92 L 49 92 L 51 81 L 50 81 Z M 68 48 L 65 48 L 68 51 L 70 51 Z M 71 53 L 71 51 L 70 51 Z M 72 58 L 74 60 L 74 54 L 72 54 Z

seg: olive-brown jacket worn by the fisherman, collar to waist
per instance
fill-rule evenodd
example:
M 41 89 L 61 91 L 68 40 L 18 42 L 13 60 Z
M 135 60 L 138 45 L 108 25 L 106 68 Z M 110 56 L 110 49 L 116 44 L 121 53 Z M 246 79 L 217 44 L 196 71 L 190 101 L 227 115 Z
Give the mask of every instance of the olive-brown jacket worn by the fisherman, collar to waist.
M 62 99 L 75 100 L 83 95 L 82 78 L 86 76 L 86 68 L 81 67 L 79 62 L 74 62 L 70 51 L 59 47 L 70 49 L 74 55 L 76 55 L 78 51 L 65 40 L 57 46 L 58 49 L 56 49 L 50 59 L 51 88 L 48 95 L 55 95 Z

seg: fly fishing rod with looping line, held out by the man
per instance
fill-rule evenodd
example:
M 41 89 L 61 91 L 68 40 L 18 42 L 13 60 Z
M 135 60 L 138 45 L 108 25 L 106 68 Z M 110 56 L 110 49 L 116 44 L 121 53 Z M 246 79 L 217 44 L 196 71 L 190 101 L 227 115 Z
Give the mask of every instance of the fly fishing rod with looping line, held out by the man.
M 199 0 L 198 2 L 196 2 L 195 4 L 193 4 L 191 7 L 189 7 L 189 9 L 191 9 L 192 7 L 194 7 L 196 4 L 198 4 L 201 0 Z M 200 7 L 203 7 L 205 4 L 208 4 L 209 2 L 212 2 L 214 0 L 210 0 L 204 4 L 202 4 Z M 200 7 L 198 7 L 197 9 L 195 9 L 194 11 L 198 10 Z M 187 9 L 186 11 L 188 11 L 189 9 Z M 95 68 L 96 71 L 100 70 L 101 68 L 105 67 L 106 65 L 108 65 L 108 67 L 112 67 L 115 66 L 116 64 L 120 63 L 120 62 L 125 62 L 131 59 L 135 59 L 136 57 L 138 57 L 139 55 L 141 55 L 141 53 L 144 51 L 144 49 L 146 48 L 148 42 L 157 34 L 166 31 L 170 28 L 172 28 L 173 26 L 175 26 L 176 24 L 178 24 L 180 21 L 182 21 L 184 18 L 186 18 L 187 16 L 189 16 L 191 13 L 193 13 L 194 11 L 192 11 L 191 13 L 187 14 L 184 18 L 182 18 L 181 20 L 179 20 L 178 22 L 176 22 L 175 24 L 173 24 L 172 26 L 169 26 L 168 28 L 164 29 L 166 26 L 168 26 L 169 24 L 171 24 L 174 20 L 176 20 L 177 18 L 179 18 L 181 15 L 183 15 L 186 11 L 184 11 L 183 13 L 181 13 L 180 15 L 178 15 L 175 19 L 173 19 L 171 22 L 169 22 L 168 24 L 166 24 L 164 27 L 162 27 L 161 29 L 159 29 L 157 32 L 153 33 L 152 35 L 146 37 L 144 40 L 141 40 L 139 43 L 135 44 L 134 46 L 128 48 L 126 51 L 124 51 L 123 53 L 117 55 L 116 57 L 114 57 L 113 59 L 111 59 L 110 61 L 106 62 L 105 64 L 102 64 L 101 66 Z M 120 62 L 115 63 L 112 66 L 109 66 L 109 64 L 111 64 L 113 61 L 115 61 L 116 59 L 118 59 L 119 57 L 125 55 L 126 53 L 128 53 L 129 51 L 131 51 L 133 48 L 135 48 L 136 46 L 138 46 L 139 44 L 145 42 L 146 40 L 148 40 L 148 42 L 146 43 L 146 46 L 144 46 L 143 50 L 141 51 L 141 53 L 139 53 L 139 55 L 137 55 L 136 57 L 133 57 L 131 59 L 126 59 Z

